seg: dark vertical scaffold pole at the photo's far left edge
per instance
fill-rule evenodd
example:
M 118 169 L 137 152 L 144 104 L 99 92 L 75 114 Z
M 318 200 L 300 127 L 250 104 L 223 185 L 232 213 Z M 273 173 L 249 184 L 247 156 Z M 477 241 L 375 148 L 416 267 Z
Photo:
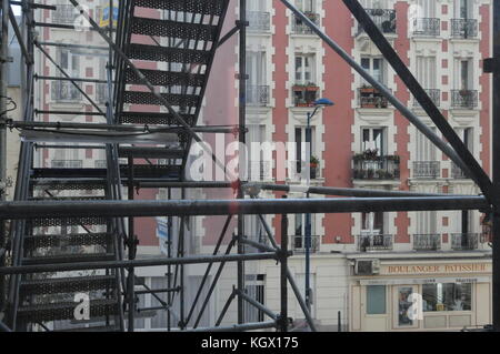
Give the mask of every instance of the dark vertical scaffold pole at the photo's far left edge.
M 2 0 L 2 37 L 0 51 L 0 201 L 6 200 L 7 192 L 7 75 L 9 57 L 9 1 Z M 6 221 L 0 220 L 0 249 L 6 244 Z M 3 266 L 4 256 L 0 255 L 0 266 Z M 0 310 L 3 306 L 4 276 L 0 276 Z

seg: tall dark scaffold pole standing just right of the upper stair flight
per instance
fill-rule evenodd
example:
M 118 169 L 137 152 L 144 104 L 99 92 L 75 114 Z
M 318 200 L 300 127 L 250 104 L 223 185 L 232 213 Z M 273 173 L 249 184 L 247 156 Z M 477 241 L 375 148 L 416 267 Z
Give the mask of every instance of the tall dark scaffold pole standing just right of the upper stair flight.
M 240 51 L 239 51 L 239 142 L 240 146 L 246 144 L 246 114 L 247 114 L 247 0 L 240 0 Z M 241 159 L 243 156 L 243 159 Z M 247 155 L 240 154 L 240 179 L 241 171 L 247 174 Z M 243 169 L 241 169 L 243 166 Z M 238 198 L 243 199 L 243 190 L 240 185 Z M 244 245 L 240 241 L 244 236 L 244 215 L 238 215 L 238 254 L 244 253 Z M 239 261 L 237 264 L 238 272 L 238 291 L 244 292 L 244 262 Z M 238 323 L 244 322 L 244 303 L 241 296 L 238 296 Z

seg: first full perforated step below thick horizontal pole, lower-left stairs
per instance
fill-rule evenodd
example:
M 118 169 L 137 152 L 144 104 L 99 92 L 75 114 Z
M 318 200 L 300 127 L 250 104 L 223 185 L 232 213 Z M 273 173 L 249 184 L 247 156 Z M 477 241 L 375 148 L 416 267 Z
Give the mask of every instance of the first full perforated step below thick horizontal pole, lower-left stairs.
M 110 233 L 77 233 L 68 235 L 43 234 L 26 235 L 24 250 L 33 251 L 40 247 L 107 245 L 112 242 Z

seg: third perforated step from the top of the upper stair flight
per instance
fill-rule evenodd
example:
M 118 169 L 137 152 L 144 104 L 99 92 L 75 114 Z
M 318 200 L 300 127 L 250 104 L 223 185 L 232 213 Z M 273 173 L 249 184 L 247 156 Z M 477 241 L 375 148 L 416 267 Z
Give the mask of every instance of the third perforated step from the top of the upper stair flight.
M 159 47 L 138 43 L 131 43 L 127 48 L 129 59 L 134 60 L 208 64 L 211 58 L 211 52 L 206 50 Z

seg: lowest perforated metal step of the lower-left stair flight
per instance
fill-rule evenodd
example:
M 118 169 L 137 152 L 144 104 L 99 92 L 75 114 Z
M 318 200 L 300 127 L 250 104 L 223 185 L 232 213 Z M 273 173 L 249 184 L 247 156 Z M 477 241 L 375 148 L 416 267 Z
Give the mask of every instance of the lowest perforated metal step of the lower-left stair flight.
M 18 310 L 18 317 L 29 322 L 48 322 L 56 320 L 73 320 L 76 302 L 62 302 L 52 304 L 37 304 L 21 306 Z M 118 313 L 118 302 L 111 300 L 91 300 L 89 303 L 90 317 L 116 315 Z

